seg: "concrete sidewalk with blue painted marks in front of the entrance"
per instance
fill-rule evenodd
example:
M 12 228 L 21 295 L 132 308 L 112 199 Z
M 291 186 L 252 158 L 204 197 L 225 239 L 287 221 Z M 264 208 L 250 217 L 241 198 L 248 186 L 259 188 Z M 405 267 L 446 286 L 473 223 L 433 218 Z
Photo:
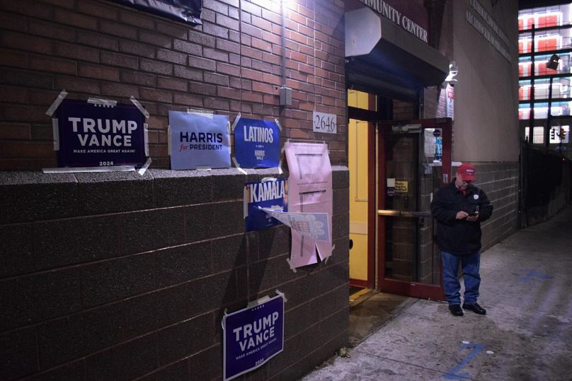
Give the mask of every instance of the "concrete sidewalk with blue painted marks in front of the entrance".
M 481 278 L 486 315 L 406 298 L 303 380 L 572 380 L 572 207 L 484 252 Z

